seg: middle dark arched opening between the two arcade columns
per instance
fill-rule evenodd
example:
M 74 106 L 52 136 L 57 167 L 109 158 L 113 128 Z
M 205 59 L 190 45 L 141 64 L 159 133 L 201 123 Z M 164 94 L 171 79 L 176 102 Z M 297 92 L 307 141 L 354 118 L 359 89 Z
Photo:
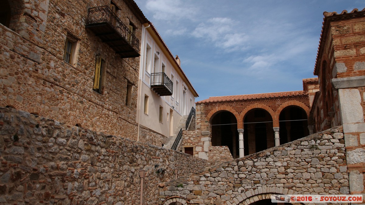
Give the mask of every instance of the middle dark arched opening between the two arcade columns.
M 248 111 L 243 120 L 245 156 L 274 147 L 273 119 L 262 108 Z

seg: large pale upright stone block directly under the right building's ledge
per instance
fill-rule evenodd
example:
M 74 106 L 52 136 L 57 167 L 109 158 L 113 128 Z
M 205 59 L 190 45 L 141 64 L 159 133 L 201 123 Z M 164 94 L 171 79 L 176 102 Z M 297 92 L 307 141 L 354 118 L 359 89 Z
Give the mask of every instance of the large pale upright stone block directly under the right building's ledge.
M 339 89 L 341 102 L 341 118 L 343 124 L 364 122 L 364 112 L 361 106 L 361 96 L 358 89 Z

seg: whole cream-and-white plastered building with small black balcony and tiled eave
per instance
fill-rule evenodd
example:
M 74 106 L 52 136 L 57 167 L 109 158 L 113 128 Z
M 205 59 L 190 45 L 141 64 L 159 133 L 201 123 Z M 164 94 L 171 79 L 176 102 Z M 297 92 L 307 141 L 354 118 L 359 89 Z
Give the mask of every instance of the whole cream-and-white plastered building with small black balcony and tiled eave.
M 181 69 L 180 59 L 173 57 L 152 23 L 142 26 L 139 72 L 139 136 L 143 142 L 160 140 L 157 145 L 171 148 L 180 129 L 187 129 L 198 94 Z

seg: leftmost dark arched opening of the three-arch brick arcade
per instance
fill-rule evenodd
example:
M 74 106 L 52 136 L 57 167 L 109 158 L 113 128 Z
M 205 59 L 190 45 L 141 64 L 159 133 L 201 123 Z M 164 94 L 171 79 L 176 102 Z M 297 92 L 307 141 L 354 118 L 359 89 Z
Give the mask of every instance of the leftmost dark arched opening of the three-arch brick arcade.
M 237 119 L 233 113 L 219 111 L 211 118 L 212 146 L 228 146 L 233 158 L 238 158 Z

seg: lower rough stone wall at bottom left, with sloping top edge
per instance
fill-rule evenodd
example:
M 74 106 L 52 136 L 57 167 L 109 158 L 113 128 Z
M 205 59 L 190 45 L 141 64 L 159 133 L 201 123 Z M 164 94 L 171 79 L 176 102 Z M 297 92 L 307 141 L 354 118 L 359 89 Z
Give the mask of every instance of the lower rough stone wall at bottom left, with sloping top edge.
M 157 204 L 158 183 L 204 170 L 206 161 L 93 132 L 12 108 L 0 108 L 1 204 Z M 157 174 L 165 167 L 165 174 Z

